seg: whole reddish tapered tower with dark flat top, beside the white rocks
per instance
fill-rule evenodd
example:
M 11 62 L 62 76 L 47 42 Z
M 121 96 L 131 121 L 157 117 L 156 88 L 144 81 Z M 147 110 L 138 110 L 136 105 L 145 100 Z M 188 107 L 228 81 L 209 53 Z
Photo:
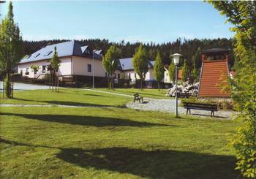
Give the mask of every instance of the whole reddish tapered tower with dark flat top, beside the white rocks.
M 198 98 L 230 97 L 230 93 L 222 91 L 222 85 L 229 75 L 228 52 L 229 50 L 222 48 L 201 51 L 202 67 Z

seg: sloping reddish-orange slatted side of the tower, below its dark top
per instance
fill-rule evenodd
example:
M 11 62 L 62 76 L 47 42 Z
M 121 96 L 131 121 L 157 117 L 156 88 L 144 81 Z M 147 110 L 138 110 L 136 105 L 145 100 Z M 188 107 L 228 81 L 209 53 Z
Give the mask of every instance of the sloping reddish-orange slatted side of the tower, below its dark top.
M 221 86 L 229 75 L 227 61 L 205 61 L 201 70 L 198 97 L 230 96 L 230 93 L 222 91 Z

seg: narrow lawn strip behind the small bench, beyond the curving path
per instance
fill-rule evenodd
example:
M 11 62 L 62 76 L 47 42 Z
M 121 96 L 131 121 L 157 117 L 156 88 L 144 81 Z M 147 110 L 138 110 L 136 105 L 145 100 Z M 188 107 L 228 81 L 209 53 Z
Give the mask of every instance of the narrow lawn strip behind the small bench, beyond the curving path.
M 148 98 L 154 98 L 154 99 L 167 99 L 170 97 L 165 96 L 166 89 L 161 89 L 160 91 L 158 89 L 143 89 L 141 91 L 138 88 L 115 88 L 115 89 L 106 89 L 106 88 L 96 88 L 96 90 L 99 91 L 108 91 L 113 92 L 117 94 L 128 94 L 128 95 L 134 95 L 139 93 L 141 96 L 148 97 Z

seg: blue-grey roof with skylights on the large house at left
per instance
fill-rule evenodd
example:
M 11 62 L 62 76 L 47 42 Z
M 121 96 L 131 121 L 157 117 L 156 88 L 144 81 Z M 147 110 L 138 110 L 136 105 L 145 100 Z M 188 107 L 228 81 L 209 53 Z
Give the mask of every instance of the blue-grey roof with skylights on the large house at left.
M 40 61 L 45 59 L 50 59 L 53 57 L 54 47 L 57 48 L 58 56 L 84 56 L 87 58 L 92 58 L 92 52 L 89 46 L 81 46 L 75 40 L 68 42 L 61 42 L 58 44 L 48 45 L 46 47 L 42 47 L 40 50 L 37 50 L 35 53 L 32 53 L 29 56 L 21 59 L 20 64 L 28 63 L 31 61 Z M 98 53 L 94 53 L 94 58 L 101 59 Z

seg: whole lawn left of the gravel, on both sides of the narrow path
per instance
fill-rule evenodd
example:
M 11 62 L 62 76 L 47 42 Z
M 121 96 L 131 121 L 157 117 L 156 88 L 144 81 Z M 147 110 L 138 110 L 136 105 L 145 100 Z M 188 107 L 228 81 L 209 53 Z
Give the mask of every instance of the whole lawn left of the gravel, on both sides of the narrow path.
M 238 176 L 234 121 L 130 110 L 130 98 L 77 89 L 15 97 L 1 103 L 95 107 L 1 107 L 0 178 Z

